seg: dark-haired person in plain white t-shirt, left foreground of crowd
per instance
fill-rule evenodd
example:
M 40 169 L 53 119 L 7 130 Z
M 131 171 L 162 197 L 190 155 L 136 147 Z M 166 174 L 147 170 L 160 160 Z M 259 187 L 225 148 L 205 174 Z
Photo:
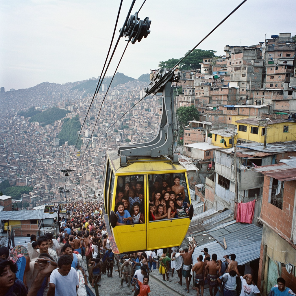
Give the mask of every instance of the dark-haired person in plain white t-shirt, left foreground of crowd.
M 72 258 L 69 255 L 63 255 L 57 264 L 59 268 L 50 275 L 47 296 L 77 295 L 79 279 L 75 268 L 71 267 Z

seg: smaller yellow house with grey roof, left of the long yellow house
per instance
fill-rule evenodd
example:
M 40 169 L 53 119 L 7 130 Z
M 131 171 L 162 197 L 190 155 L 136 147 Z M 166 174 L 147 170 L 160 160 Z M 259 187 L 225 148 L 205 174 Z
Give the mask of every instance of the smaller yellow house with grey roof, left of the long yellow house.
M 212 145 L 222 147 L 222 148 L 231 148 L 236 144 L 236 134 L 237 131 L 234 128 L 222 128 L 215 131 L 210 131 L 212 138 Z M 209 134 L 210 136 L 210 134 Z M 234 141 L 234 143 L 232 143 Z

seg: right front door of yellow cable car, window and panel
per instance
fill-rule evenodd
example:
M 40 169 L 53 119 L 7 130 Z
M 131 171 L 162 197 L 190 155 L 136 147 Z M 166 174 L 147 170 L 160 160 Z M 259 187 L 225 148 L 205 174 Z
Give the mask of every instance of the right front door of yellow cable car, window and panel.
M 190 198 L 185 173 L 148 175 L 147 184 L 149 184 L 147 250 L 179 246 L 190 224 L 188 214 Z M 175 197 L 181 199 L 184 197 L 180 206 L 174 200 L 175 197 L 169 194 L 173 189 Z M 168 218 L 168 213 L 173 218 Z

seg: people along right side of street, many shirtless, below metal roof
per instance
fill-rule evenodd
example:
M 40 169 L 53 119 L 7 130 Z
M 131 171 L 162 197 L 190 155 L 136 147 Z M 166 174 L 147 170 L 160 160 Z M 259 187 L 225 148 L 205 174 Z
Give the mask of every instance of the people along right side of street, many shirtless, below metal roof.
M 197 244 L 192 237 L 189 248 L 166 249 L 160 256 L 160 273 L 163 280 L 169 280 L 169 268 L 172 269 L 172 277 L 176 269 L 182 286 L 182 276 L 186 280 L 185 291 L 189 293 L 189 286 L 192 277 L 193 289 L 197 291 L 197 296 L 204 295 L 204 288 L 209 287 L 211 296 L 215 296 L 219 290 L 223 296 L 260 296 L 260 290 L 254 282 L 252 274 L 241 275 L 235 254 L 224 255 L 224 260 L 218 260 L 216 254 L 210 255 L 205 247 L 198 255 L 197 263 L 193 264 L 192 256 Z M 165 276 L 167 279 L 165 279 Z M 278 278 L 277 283 L 271 288 L 268 296 L 296 296 L 296 294 L 285 287 L 285 280 Z

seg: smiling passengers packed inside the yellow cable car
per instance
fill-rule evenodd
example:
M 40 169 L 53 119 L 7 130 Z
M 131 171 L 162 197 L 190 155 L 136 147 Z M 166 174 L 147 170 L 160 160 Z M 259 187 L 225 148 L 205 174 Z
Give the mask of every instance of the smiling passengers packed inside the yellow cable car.
M 181 177 L 174 176 L 174 185 L 170 187 L 163 179 L 156 179 L 149 188 L 149 222 L 187 217 L 190 204 Z M 143 182 L 134 177 L 118 184 L 115 200 L 116 225 L 145 223 L 145 194 Z

